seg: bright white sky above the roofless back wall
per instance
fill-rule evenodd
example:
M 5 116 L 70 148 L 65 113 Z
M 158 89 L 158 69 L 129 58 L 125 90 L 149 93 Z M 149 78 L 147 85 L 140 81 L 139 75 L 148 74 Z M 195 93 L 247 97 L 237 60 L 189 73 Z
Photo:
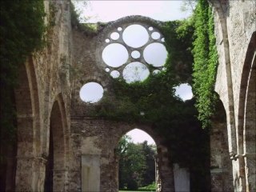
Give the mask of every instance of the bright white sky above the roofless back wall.
M 142 15 L 159 21 L 187 18 L 190 11 L 182 12 L 183 1 L 85 1 L 76 0 L 77 9 L 87 22 L 110 22 L 128 15 Z M 89 18 L 89 19 L 88 19 Z

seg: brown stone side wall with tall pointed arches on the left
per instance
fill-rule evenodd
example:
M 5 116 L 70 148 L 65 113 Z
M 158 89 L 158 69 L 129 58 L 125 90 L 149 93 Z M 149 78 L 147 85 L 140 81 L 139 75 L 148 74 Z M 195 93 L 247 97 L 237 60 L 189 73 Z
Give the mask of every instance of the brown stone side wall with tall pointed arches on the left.
M 17 191 L 42 191 L 45 180 L 46 158 L 49 154 L 49 134 L 51 111 L 54 103 L 60 107 L 62 119 L 55 119 L 64 127 L 62 139 L 65 145 L 59 146 L 65 153 L 65 167 L 69 170 L 70 135 L 70 74 L 66 63 L 71 64 L 70 5 L 66 1 L 45 1 L 46 23 L 50 19 L 50 6 L 56 7 L 55 25 L 50 28 L 46 47 L 34 53 L 19 71 L 15 90 L 18 110 L 18 154 L 16 171 Z M 67 178 L 65 178 L 67 181 Z M 64 182 L 64 181 L 63 181 Z M 58 183 L 56 183 L 58 185 Z M 7 186 L 11 190 L 11 186 Z M 65 183 L 66 187 L 66 183 Z M 59 188 L 60 189 L 60 188 Z M 64 185 L 61 186 L 64 189 Z

